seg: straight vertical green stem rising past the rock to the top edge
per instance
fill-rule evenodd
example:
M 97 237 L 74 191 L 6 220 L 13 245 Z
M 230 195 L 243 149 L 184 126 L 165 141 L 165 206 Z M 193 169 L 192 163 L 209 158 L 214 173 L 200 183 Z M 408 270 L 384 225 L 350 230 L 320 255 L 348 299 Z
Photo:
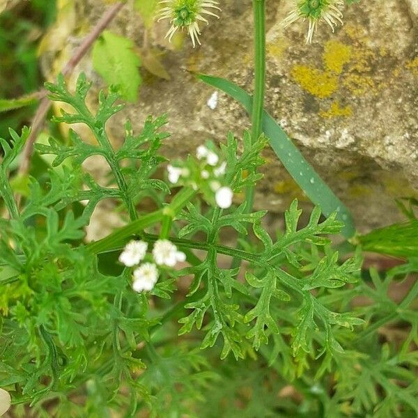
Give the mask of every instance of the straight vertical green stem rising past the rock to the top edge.
M 265 0 L 253 0 L 254 13 L 254 96 L 251 110 L 251 140 L 261 135 L 265 93 Z M 245 190 L 245 212 L 250 213 L 254 206 L 254 186 Z M 240 235 L 242 238 L 243 235 Z M 234 258 L 232 268 L 240 266 L 240 258 Z

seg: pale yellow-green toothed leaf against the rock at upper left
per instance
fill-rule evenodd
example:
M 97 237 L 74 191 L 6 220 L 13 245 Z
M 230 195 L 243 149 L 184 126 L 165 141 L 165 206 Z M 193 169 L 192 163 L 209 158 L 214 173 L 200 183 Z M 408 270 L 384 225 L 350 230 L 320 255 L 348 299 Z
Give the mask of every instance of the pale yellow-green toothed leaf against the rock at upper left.
M 107 84 L 118 86 L 125 100 L 137 100 L 139 75 L 139 56 L 133 51 L 133 42 L 123 36 L 104 31 L 93 47 L 93 67 Z

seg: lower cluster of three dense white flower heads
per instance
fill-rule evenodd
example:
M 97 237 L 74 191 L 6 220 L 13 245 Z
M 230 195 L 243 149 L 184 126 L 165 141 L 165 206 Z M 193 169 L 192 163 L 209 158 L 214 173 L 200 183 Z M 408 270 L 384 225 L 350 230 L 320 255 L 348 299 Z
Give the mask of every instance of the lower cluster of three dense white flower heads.
M 119 261 L 126 267 L 134 267 L 134 281 L 132 288 L 136 292 L 151 291 L 157 283 L 158 272 L 157 265 L 167 265 L 174 267 L 178 261 L 185 261 L 186 256 L 178 251 L 176 245 L 169 240 L 157 240 L 153 248 L 153 258 L 155 263 L 141 263 L 146 257 L 148 244 L 144 241 L 130 241 L 119 256 Z

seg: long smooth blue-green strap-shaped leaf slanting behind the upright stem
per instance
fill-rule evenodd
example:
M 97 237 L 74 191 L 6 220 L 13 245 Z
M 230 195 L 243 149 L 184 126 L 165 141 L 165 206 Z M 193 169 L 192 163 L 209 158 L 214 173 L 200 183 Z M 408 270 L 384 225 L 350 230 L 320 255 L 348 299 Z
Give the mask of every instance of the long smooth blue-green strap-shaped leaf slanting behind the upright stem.
M 219 77 L 198 74 L 197 78 L 231 95 L 232 98 L 238 100 L 247 112 L 251 114 L 252 98 L 245 90 Z M 321 211 L 327 217 L 333 212 L 337 212 L 337 219 L 341 220 L 345 225 L 342 230 L 343 235 L 346 238 L 352 237 L 355 233 L 355 226 L 348 208 L 344 206 L 330 187 L 320 178 L 309 162 L 305 160 L 300 150 L 293 144 L 286 132 L 281 129 L 280 125 L 274 121 L 267 111 L 263 111 L 263 132 L 268 137 L 269 144 L 274 150 L 274 153 L 276 153 L 279 160 L 284 164 L 284 167 L 286 167 L 287 171 L 296 183 L 300 185 L 309 199 L 320 206 Z

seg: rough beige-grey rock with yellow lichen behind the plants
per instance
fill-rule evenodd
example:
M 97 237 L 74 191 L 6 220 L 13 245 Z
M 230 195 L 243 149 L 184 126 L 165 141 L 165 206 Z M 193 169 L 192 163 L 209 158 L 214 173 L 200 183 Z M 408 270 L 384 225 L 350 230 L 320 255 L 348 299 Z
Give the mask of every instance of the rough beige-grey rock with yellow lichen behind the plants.
M 173 132 L 164 147 L 170 157 L 194 152 L 208 138 L 222 141 L 229 130 L 238 136 L 249 127 L 239 104 L 219 93 L 217 107 L 207 101 L 213 89 L 196 82 L 190 71 L 226 77 L 251 91 L 252 13 L 250 0 L 224 0 L 222 17 L 210 22 L 202 47 L 175 49 L 164 41 L 161 22 L 148 33 L 148 45 L 165 52 L 171 76 L 158 79 L 143 71 L 139 102 L 120 114 L 109 129 L 121 137 L 122 118 L 139 128 L 148 114 L 169 115 Z M 279 23 L 293 0 L 268 0 L 268 77 L 265 107 L 295 140 L 302 153 L 352 210 L 359 231 L 401 219 L 394 199 L 418 194 L 418 1 L 363 0 L 344 10 L 344 26 L 332 33 L 320 24 L 306 45 L 307 22 L 286 30 Z M 102 0 L 73 4 L 73 34 L 58 56 L 66 61 L 83 30 L 103 13 Z M 75 19 L 74 19 L 75 17 Z M 88 22 L 82 20 L 87 17 Z M 141 47 L 144 31 L 128 1 L 111 30 Z M 45 65 L 47 68 L 47 65 Z M 91 62 L 84 70 L 98 84 Z M 258 208 L 282 212 L 297 197 L 306 197 L 271 150 L 265 151 L 265 179 L 258 187 Z

